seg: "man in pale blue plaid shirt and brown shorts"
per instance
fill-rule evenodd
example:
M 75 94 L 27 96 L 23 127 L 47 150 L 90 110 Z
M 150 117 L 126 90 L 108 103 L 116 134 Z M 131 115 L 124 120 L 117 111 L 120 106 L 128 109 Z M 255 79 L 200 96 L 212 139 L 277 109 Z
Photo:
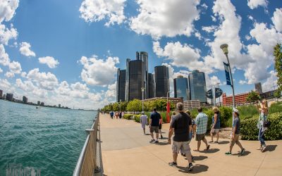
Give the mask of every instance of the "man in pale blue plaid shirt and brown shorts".
M 198 108 L 198 115 L 195 120 L 196 125 L 196 141 L 197 141 L 197 149 L 194 151 L 200 151 L 201 141 L 204 142 L 207 146 L 207 150 L 209 150 L 209 144 L 207 144 L 207 139 L 205 138 L 207 132 L 207 114 L 202 112 L 202 108 Z

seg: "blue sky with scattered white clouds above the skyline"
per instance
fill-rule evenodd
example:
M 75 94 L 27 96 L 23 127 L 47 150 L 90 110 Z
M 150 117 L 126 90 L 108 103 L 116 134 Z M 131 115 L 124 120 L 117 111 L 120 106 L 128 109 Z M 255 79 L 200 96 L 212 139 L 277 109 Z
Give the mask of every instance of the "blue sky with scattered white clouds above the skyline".
M 178 75 L 206 73 L 226 94 L 220 49 L 228 44 L 235 94 L 273 90 L 280 0 L 0 0 L 0 89 L 71 108 L 116 101 L 116 70 L 136 51 Z M 173 96 L 173 94 L 171 94 Z

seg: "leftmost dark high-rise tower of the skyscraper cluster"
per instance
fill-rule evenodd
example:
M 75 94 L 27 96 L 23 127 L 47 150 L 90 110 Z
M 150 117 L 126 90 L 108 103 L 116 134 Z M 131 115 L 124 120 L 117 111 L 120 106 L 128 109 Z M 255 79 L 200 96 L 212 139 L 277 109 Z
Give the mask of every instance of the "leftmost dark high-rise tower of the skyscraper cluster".
M 116 102 L 125 101 L 125 81 L 126 70 L 118 68 L 117 84 L 116 84 Z

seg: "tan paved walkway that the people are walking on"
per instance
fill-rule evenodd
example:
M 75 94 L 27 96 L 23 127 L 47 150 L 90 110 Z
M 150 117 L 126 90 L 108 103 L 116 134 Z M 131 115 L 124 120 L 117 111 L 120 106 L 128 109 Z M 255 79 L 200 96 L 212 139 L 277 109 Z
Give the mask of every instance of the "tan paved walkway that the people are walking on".
M 143 135 L 140 124 L 132 120 L 112 120 L 101 115 L 102 158 L 104 175 L 282 175 L 282 141 L 266 142 L 269 151 L 257 151 L 259 142 L 241 141 L 245 156 L 238 156 L 238 146 L 233 147 L 233 156 L 226 156 L 228 140 L 211 144 L 209 151 L 194 152 L 195 165 L 192 172 L 186 170 L 188 161 L 178 156 L 178 168 L 168 166 L 172 161 L 171 145 L 166 139 L 159 144 L 149 144 L 150 136 Z M 165 124 L 164 137 L 168 136 Z M 148 132 L 148 129 L 146 129 Z M 209 141 L 210 138 L 207 137 Z M 190 143 L 195 149 L 196 142 Z M 202 144 L 201 149 L 204 149 Z

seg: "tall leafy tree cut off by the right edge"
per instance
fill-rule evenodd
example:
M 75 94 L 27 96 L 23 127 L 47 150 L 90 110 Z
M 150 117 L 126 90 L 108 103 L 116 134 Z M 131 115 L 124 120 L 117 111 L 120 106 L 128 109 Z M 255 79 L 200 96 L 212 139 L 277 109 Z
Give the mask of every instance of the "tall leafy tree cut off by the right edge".
M 277 85 L 278 90 L 282 92 L 282 52 L 281 52 L 281 44 L 276 44 L 274 46 L 274 69 L 277 73 Z

